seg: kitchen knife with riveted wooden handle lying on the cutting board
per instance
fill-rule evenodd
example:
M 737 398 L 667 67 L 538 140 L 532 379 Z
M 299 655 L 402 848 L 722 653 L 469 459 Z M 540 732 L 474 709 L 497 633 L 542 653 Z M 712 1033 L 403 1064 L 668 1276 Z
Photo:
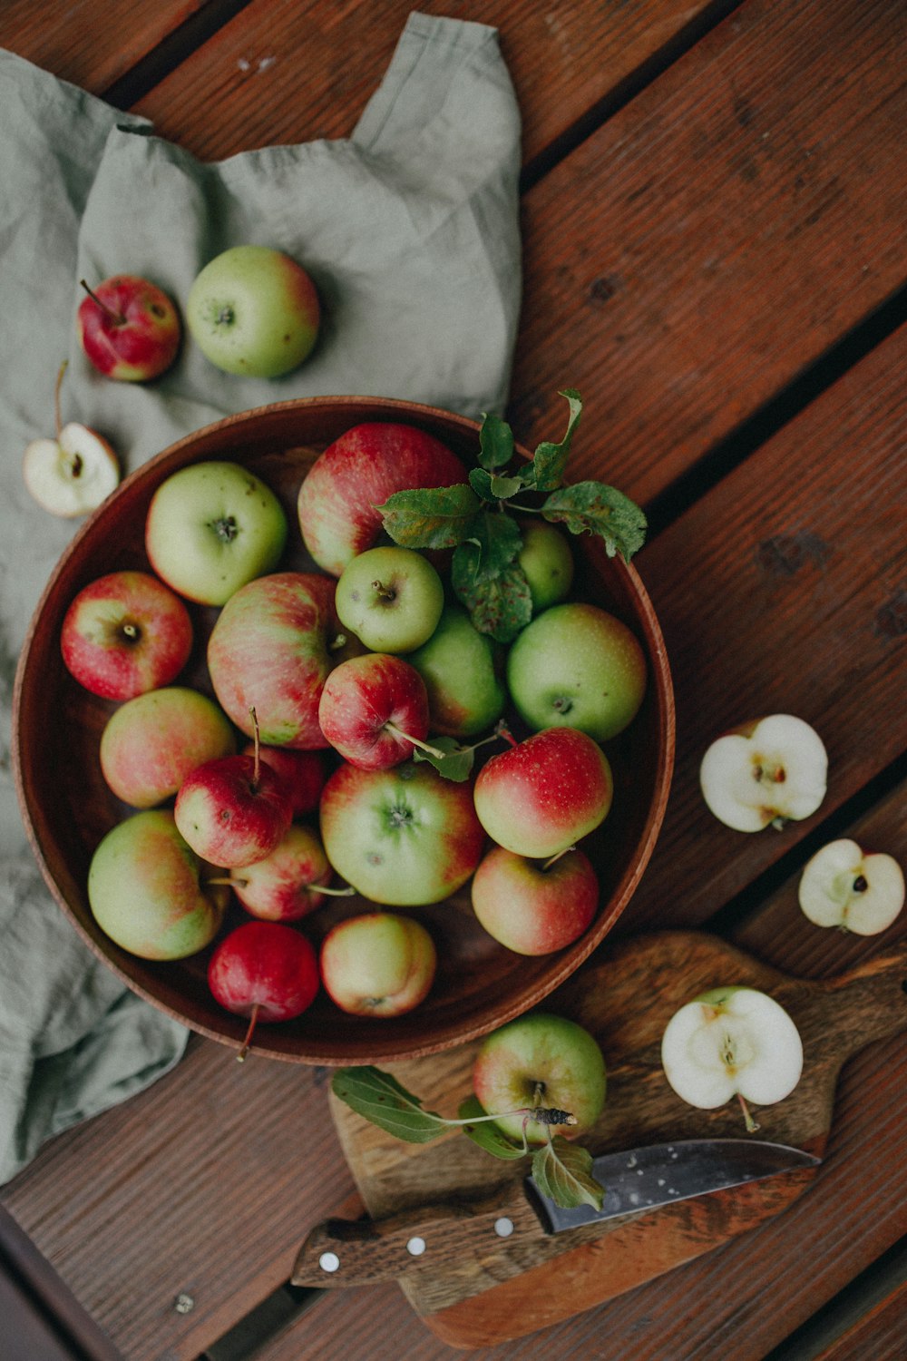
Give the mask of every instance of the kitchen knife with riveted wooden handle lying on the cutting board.
M 336 1288 L 400 1279 L 443 1268 L 464 1253 L 506 1251 L 581 1225 L 642 1217 L 819 1161 L 802 1149 L 761 1139 L 679 1139 L 605 1153 L 593 1161 L 593 1175 L 605 1188 L 601 1210 L 563 1209 L 528 1177 L 481 1200 L 419 1206 L 381 1219 L 325 1219 L 302 1244 L 291 1282 Z

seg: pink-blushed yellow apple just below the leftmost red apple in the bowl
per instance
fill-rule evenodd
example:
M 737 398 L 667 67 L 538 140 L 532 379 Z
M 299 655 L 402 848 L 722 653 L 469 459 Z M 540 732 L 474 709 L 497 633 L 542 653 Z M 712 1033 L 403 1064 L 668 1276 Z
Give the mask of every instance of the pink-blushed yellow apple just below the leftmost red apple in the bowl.
M 235 750 L 234 731 L 213 700 L 188 686 L 162 686 L 113 710 L 101 734 L 101 772 L 124 803 L 152 808 L 203 761 Z

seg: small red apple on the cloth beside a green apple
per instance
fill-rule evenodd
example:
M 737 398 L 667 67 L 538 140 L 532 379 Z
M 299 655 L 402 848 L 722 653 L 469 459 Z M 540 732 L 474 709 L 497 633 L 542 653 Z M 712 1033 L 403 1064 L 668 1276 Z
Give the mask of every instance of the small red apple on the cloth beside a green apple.
M 87 297 L 76 316 L 82 348 L 107 378 L 146 382 L 177 357 L 182 327 L 173 301 L 147 279 L 117 274 Z

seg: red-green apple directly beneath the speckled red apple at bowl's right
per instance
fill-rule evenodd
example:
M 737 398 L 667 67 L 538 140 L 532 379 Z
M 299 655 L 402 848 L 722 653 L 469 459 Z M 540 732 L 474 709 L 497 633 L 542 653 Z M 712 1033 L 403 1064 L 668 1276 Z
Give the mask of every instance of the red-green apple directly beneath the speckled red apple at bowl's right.
M 515 954 L 551 954 L 579 939 L 598 906 L 598 878 L 582 851 L 551 862 L 494 847 L 472 879 L 476 919 Z

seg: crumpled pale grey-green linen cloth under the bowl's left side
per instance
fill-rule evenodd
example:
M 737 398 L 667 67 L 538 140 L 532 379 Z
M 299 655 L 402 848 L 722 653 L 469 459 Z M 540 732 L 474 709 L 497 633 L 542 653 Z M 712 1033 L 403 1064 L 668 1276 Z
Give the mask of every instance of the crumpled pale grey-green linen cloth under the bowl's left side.
M 302 73 L 301 73 L 302 75 Z M 264 76 L 261 76 L 264 79 Z M 0 1184 L 52 1135 L 169 1071 L 186 1032 L 98 962 L 27 847 L 10 732 L 18 653 L 75 532 L 27 495 L 22 452 L 63 421 L 124 470 L 209 421 L 287 397 L 407 397 L 469 416 L 506 403 L 521 298 L 519 113 L 494 29 L 412 14 L 348 140 L 205 165 L 0 50 Z M 178 304 L 241 242 L 298 259 L 325 324 L 275 381 L 212 367 L 192 342 L 148 385 L 97 374 L 75 339 L 79 279 L 156 282 Z

